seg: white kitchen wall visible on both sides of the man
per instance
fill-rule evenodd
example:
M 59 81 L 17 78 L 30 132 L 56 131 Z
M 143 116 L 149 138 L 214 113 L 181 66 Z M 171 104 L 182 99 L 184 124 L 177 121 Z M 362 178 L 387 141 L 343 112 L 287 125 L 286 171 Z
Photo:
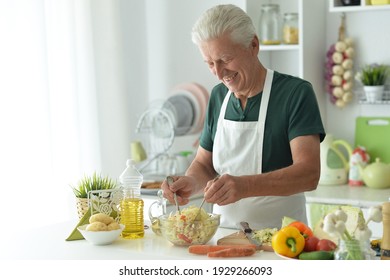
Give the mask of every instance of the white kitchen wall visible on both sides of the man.
M 218 82 L 209 73 L 197 47 L 191 42 L 190 32 L 198 16 L 207 8 L 219 3 L 235 3 L 246 7 L 244 0 L 119 1 L 126 78 L 122 86 L 127 96 L 124 102 L 129 104 L 128 123 L 125 124 L 129 130 L 125 135 L 125 141 L 130 142 L 137 137 L 134 133 L 136 122 L 149 102 L 166 98 L 175 85 L 182 82 L 198 82 L 211 91 Z M 327 49 L 337 40 L 341 14 L 329 13 L 327 5 L 324 13 L 327 18 Z M 347 13 L 347 35 L 353 37 L 356 42 L 356 65 L 366 62 L 390 63 L 387 48 L 390 33 L 386 30 L 387 26 L 390 26 L 389 15 L 389 10 Z M 322 36 L 316 33 L 314 35 Z M 325 62 L 325 53 L 323 56 Z M 326 97 L 319 98 L 319 102 L 326 108 L 323 117 L 327 132 L 334 134 L 336 138 L 346 139 L 351 144 L 354 143 L 357 116 L 388 116 L 390 112 L 390 105 L 360 105 L 356 98 L 341 110 L 328 101 L 325 92 L 323 94 Z M 197 137 L 198 135 L 178 137 L 174 150 L 190 148 L 190 144 Z M 125 157 L 123 153 L 129 152 L 128 146 L 123 147 L 122 154 L 116 158 L 115 164 L 121 165 L 122 158 Z

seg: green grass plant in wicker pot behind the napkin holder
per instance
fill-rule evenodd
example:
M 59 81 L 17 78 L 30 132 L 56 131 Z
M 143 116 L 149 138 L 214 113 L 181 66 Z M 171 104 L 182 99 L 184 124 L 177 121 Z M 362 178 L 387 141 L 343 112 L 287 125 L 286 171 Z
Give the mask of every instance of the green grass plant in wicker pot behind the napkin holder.
M 77 199 L 77 212 L 81 219 L 88 210 L 88 192 L 110 190 L 117 187 L 117 182 L 108 176 L 94 172 L 91 176 L 85 175 L 75 186 L 71 186 Z

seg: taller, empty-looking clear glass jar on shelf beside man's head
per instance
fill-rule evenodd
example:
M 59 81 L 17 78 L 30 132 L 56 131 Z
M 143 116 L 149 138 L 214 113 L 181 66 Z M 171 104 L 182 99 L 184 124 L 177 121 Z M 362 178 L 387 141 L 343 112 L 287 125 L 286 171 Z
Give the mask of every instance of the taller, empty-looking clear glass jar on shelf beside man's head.
M 279 45 L 281 43 L 281 20 L 279 5 L 264 4 L 260 15 L 260 43 Z

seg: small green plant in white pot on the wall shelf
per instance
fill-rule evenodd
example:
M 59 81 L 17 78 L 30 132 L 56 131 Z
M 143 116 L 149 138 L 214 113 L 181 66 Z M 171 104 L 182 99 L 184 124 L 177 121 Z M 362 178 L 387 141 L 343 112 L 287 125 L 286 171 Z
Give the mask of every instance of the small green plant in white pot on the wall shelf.
M 361 68 L 356 79 L 363 84 L 368 102 L 380 101 L 383 98 L 385 83 L 389 76 L 389 66 L 385 64 L 370 64 Z

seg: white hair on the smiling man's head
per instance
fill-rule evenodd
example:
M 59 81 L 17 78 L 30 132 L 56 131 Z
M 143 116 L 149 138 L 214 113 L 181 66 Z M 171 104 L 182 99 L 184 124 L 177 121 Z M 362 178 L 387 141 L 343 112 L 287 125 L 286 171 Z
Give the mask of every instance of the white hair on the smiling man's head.
M 192 41 L 197 45 L 224 34 L 230 34 L 234 42 L 248 47 L 256 29 L 242 9 L 230 4 L 208 9 L 192 27 Z

